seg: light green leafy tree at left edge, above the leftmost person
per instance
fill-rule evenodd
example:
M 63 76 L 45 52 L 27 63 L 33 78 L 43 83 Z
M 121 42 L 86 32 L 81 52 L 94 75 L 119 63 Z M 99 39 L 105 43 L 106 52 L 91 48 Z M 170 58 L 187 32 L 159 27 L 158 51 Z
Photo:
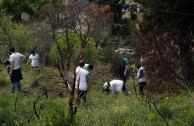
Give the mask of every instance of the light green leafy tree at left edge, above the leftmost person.
M 17 51 L 25 52 L 31 46 L 30 34 L 23 24 L 11 21 L 11 17 L 4 16 L 0 19 L 0 47 L 6 51 L 14 46 Z

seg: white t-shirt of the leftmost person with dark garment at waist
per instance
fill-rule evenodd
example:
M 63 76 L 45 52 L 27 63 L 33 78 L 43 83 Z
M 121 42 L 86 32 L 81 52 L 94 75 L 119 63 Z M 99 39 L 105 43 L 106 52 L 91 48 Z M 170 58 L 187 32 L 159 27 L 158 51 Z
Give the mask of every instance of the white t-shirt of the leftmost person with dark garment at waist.
M 20 68 L 20 60 L 24 57 L 24 55 L 20 53 L 13 53 L 10 55 L 9 61 L 14 63 L 13 70 L 17 70 Z

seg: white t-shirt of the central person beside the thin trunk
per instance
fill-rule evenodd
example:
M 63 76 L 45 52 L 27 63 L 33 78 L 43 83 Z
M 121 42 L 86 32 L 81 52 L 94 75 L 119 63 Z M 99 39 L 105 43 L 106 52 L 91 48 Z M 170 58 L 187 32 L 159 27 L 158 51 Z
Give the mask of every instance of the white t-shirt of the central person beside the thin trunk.
M 75 88 L 78 89 L 78 82 L 79 82 L 79 90 L 87 91 L 87 77 L 89 72 L 81 67 L 76 68 L 76 83 Z

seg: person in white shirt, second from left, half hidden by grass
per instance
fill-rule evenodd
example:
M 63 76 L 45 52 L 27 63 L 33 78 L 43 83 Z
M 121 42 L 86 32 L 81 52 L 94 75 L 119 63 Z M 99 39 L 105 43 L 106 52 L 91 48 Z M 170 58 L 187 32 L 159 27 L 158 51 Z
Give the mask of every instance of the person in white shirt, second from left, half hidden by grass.
M 33 68 L 38 68 L 39 65 L 40 65 L 39 59 L 40 59 L 39 55 L 38 55 L 37 53 L 35 53 L 34 50 L 32 50 L 32 51 L 31 51 L 31 54 L 30 54 L 30 56 L 29 56 L 28 62 L 26 63 L 26 66 L 28 65 L 28 63 L 31 62 L 31 66 L 32 66 Z

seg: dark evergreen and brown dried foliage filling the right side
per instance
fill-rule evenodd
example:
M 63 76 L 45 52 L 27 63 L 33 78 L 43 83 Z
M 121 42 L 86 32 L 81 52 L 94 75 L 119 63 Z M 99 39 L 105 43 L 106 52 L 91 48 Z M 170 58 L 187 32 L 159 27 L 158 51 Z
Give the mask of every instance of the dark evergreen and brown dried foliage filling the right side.
M 151 90 L 176 90 L 192 85 L 193 3 L 139 1 L 144 10 L 134 48 L 144 57 Z M 192 86 L 191 86 L 192 87 Z M 190 87 L 190 88 L 191 88 Z M 153 91 L 153 90 L 152 90 Z

